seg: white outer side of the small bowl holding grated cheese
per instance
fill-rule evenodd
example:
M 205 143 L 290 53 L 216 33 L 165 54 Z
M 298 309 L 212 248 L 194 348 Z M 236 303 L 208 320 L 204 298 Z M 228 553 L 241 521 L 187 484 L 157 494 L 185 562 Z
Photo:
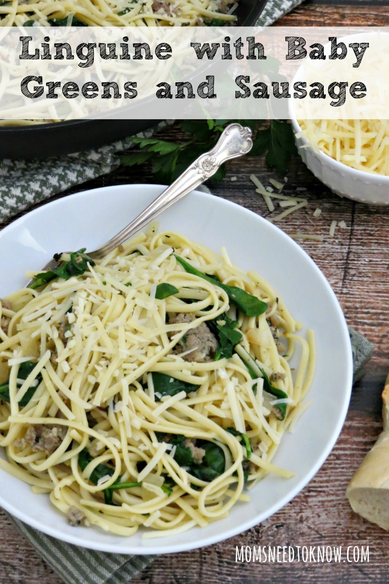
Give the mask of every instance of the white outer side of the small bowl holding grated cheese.
M 291 119 L 295 134 L 302 131 L 296 119 Z M 389 176 L 357 171 L 321 151 L 315 151 L 306 138 L 296 138 L 297 151 L 316 178 L 332 192 L 360 203 L 389 205 Z

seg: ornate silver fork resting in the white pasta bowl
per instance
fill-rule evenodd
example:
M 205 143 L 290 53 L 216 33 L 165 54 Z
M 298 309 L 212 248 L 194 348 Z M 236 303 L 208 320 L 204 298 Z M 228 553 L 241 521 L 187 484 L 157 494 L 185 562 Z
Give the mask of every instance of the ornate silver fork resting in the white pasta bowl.
M 204 154 L 201 154 L 194 162 L 192 162 L 192 164 L 188 166 L 188 168 L 178 176 L 178 178 L 168 186 L 162 194 L 150 203 L 149 206 L 138 215 L 138 217 L 131 221 L 127 227 L 124 227 L 124 229 L 107 241 L 107 243 L 101 246 L 101 248 L 92 252 L 86 252 L 86 255 L 93 260 L 103 259 L 104 256 L 110 253 L 113 249 L 127 241 L 127 239 L 132 235 L 135 235 L 139 230 L 145 227 L 145 225 L 148 225 L 150 221 L 155 219 L 155 217 L 162 213 L 162 211 L 170 207 L 173 203 L 176 203 L 176 201 L 182 199 L 185 194 L 190 193 L 191 190 L 194 190 L 201 185 L 206 179 L 211 178 L 223 162 L 247 154 L 252 147 L 253 141 L 251 140 L 250 128 L 244 128 L 240 124 L 230 124 L 220 135 L 218 142 L 212 150 L 204 152 Z M 60 255 L 61 254 L 56 253 L 54 258 L 43 266 L 40 271 L 45 272 L 58 267 L 58 258 Z M 33 282 L 34 279 L 31 279 L 27 282 L 25 288 L 29 288 Z

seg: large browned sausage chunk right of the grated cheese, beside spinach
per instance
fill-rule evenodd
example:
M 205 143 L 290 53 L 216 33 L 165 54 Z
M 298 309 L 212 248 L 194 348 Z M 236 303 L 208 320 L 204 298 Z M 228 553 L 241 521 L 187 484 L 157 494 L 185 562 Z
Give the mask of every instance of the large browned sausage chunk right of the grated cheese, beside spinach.
M 183 322 L 192 322 L 194 317 L 190 314 L 178 314 L 174 318 L 170 318 L 169 324 L 181 324 Z M 196 328 L 185 332 L 185 335 L 178 341 L 175 354 L 184 354 L 184 361 L 197 361 L 202 363 L 204 361 L 211 361 L 215 357 L 218 349 L 218 339 L 209 330 L 205 322 L 199 324 Z

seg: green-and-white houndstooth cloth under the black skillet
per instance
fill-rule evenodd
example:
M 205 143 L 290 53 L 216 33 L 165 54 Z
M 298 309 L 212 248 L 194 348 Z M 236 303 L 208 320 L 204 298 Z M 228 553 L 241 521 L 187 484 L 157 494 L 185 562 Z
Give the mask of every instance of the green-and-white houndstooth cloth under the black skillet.
M 271 25 L 302 2 L 269 0 L 257 25 Z M 164 124 L 162 122 L 139 135 L 150 137 Z M 48 158 L 44 163 L 40 160 L 0 161 L 0 224 L 54 194 L 114 171 L 120 166 L 117 153 L 131 146 L 131 137 L 128 137 L 97 150 Z

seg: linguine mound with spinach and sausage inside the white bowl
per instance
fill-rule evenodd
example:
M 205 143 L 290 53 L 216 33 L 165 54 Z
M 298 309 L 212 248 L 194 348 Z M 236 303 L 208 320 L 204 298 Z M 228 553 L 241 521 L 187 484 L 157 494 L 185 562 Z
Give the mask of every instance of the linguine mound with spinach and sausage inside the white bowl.
M 143 537 L 205 527 L 245 484 L 293 475 L 272 458 L 314 338 L 259 274 L 156 225 L 97 265 L 61 261 L 79 275 L 2 301 L 2 470 L 71 524 Z

